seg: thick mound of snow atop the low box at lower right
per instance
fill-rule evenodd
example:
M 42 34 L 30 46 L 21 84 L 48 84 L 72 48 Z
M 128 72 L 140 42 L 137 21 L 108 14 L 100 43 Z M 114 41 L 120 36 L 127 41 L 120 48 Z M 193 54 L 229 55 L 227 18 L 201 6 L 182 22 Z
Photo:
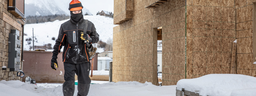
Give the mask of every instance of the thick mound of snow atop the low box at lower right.
M 199 78 L 179 80 L 177 90 L 182 88 L 202 96 L 256 96 L 256 77 L 240 74 L 209 74 Z M 247 93 L 244 93 L 244 90 Z

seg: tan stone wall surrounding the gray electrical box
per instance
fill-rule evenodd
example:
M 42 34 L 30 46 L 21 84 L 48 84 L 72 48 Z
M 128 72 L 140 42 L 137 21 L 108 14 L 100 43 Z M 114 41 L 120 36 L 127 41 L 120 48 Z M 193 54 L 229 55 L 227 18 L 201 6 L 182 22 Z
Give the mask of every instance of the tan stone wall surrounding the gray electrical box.
M 21 19 L 16 19 L 10 12 L 7 11 L 7 2 L 8 0 L 0 0 L 0 81 L 21 80 L 20 77 L 16 76 L 17 71 L 10 72 L 10 68 L 8 68 L 8 40 L 11 29 L 17 29 L 20 31 L 20 40 L 22 42 L 23 28 L 21 25 L 24 25 L 24 21 Z M 6 20 L 4 18 L 8 18 L 10 20 Z M 22 48 L 20 48 L 20 50 L 21 49 Z M 2 70 L 3 66 L 6 66 L 7 69 Z

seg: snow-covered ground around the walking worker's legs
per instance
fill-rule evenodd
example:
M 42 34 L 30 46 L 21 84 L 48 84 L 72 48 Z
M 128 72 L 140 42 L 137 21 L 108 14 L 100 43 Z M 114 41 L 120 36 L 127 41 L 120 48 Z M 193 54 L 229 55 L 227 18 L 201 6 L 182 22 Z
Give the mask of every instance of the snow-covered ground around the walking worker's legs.
M 152 83 L 92 81 L 88 96 L 176 96 L 176 85 L 156 86 Z M 75 85 L 75 94 L 77 85 Z M 27 84 L 21 81 L 0 81 L 1 96 L 63 96 L 62 84 Z

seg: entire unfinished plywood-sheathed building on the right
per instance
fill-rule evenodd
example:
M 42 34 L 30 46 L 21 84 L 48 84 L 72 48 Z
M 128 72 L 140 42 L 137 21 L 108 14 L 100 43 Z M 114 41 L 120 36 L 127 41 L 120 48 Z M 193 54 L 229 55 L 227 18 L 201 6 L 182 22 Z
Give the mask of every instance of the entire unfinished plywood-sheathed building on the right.
M 113 81 L 162 84 L 207 74 L 256 77 L 256 0 L 114 0 Z M 233 43 L 237 40 L 237 43 Z

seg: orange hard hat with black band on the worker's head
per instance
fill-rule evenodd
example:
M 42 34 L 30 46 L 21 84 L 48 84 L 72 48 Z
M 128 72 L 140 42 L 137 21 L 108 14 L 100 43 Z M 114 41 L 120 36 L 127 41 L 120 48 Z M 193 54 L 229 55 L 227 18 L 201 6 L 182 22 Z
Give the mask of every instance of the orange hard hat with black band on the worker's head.
M 82 5 L 82 3 L 78 0 L 72 0 L 70 3 L 69 3 L 69 8 L 68 10 L 70 11 L 77 11 L 77 10 L 82 10 L 84 7 Z

